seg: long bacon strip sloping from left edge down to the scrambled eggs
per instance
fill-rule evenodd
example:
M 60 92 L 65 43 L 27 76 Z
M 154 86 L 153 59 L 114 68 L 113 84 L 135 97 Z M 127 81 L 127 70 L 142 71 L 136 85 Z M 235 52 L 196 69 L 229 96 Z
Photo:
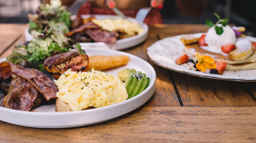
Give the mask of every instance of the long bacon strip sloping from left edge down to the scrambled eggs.
M 7 66 L 8 64 L 9 66 Z M 10 69 L 10 71 L 2 72 L 6 70 L 5 68 Z M 47 101 L 57 98 L 56 92 L 58 92 L 58 87 L 43 72 L 36 69 L 24 68 L 9 61 L 0 63 L 0 77 L 7 79 L 11 77 L 10 72 L 13 77 L 21 76 L 28 80 L 30 84 L 32 84 L 40 93 L 44 95 L 44 98 Z

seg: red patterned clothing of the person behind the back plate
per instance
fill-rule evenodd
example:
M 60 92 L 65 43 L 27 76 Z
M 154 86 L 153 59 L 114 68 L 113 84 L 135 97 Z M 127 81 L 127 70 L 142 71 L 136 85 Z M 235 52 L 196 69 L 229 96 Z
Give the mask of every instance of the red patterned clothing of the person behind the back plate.
M 139 10 L 121 10 L 124 15 L 135 18 Z M 93 8 L 92 4 L 85 2 L 77 11 L 77 15 L 87 14 L 103 14 L 103 15 L 116 15 L 116 13 L 108 8 Z M 158 9 L 153 8 L 144 20 L 145 24 L 161 24 L 163 23 L 161 13 Z

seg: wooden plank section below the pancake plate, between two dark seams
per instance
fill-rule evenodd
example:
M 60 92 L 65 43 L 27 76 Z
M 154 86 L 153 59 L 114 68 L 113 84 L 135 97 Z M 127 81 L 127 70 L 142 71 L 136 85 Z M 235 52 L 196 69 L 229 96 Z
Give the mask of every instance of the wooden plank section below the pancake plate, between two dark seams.
M 255 106 L 240 82 L 171 72 L 184 106 Z

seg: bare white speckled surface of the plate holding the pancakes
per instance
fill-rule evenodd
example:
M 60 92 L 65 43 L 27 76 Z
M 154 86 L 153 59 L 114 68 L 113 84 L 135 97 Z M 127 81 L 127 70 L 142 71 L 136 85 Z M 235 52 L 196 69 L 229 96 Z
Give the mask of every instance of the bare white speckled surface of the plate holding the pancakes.
M 184 54 L 184 44 L 180 40 L 183 36 L 184 35 L 168 37 L 155 42 L 147 48 L 147 55 L 157 65 L 181 73 L 220 80 L 256 81 L 256 69 L 224 71 L 224 73 L 220 75 L 193 71 L 176 64 L 175 59 Z

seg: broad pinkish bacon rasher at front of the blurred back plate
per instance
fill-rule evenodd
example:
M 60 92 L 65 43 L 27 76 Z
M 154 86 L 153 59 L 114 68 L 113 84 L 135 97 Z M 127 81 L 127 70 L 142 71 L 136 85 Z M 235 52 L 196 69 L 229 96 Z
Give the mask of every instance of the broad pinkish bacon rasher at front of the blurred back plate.
M 87 35 L 89 35 L 95 42 L 115 43 L 117 42 L 117 32 L 108 32 L 100 29 L 85 29 Z

